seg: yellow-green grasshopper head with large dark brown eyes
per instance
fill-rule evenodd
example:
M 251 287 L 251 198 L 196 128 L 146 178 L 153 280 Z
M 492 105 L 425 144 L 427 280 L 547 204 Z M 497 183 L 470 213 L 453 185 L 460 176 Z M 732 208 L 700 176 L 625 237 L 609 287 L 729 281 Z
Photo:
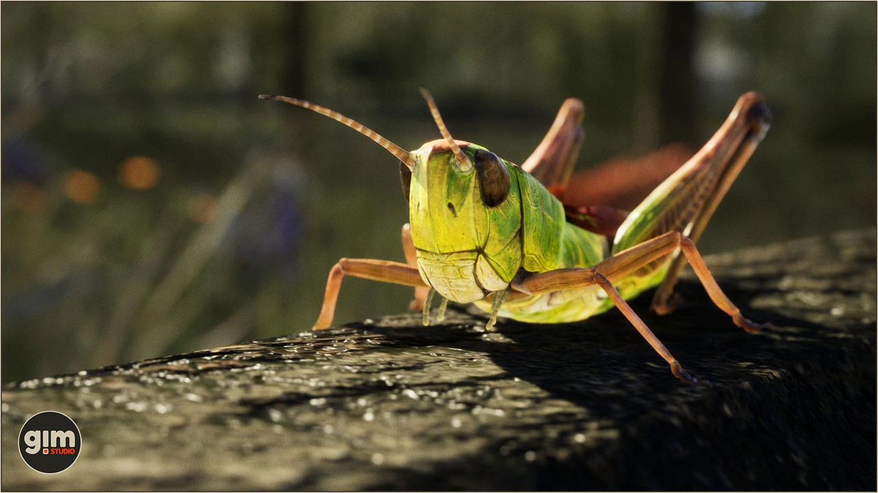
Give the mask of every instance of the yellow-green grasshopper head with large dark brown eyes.
M 471 303 L 505 289 L 521 266 L 521 199 L 513 164 L 482 146 L 455 145 L 459 154 L 446 140 L 412 153 L 409 221 L 421 276 L 443 297 Z

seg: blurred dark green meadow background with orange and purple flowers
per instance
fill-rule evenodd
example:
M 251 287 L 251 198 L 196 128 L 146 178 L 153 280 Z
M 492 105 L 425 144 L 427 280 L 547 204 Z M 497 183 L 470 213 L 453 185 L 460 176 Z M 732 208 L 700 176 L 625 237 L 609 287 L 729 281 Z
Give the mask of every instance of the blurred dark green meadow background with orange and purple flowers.
M 707 253 L 875 225 L 875 4 L 4 3 L 3 380 L 296 333 L 342 256 L 402 260 L 398 161 L 451 132 L 522 162 L 559 104 L 584 169 L 774 124 Z M 409 289 L 345 281 L 336 323 Z

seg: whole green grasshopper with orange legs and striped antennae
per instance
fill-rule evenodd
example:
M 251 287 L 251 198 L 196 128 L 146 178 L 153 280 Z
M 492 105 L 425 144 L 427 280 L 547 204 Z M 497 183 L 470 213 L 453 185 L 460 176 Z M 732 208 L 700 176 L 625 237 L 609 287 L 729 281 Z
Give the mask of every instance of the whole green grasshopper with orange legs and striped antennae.
M 415 288 L 411 307 L 428 324 L 435 294 L 476 304 L 522 322 L 575 322 L 615 306 L 683 382 L 696 383 L 625 301 L 659 286 L 652 309 L 663 315 L 679 304 L 673 287 L 688 261 L 711 300 L 746 332 L 744 318 L 719 288 L 695 248 L 709 218 L 765 136 L 770 113 L 759 94 L 738 99 L 702 149 L 625 214 L 608 206 L 573 207 L 564 194 L 579 154 L 583 104 L 567 99 L 536 151 L 521 167 L 483 146 L 455 140 L 433 97 L 421 89 L 443 139 L 408 152 L 318 104 L 260 96 L 316 111 L 383 146 L 401 165 L 409 224 L 402 228 L 407 263 L 342 259 L 329 272 L 314 330 L 332 325 L 344 275 Z M 702 381 L 703 382 L 703 381 Z

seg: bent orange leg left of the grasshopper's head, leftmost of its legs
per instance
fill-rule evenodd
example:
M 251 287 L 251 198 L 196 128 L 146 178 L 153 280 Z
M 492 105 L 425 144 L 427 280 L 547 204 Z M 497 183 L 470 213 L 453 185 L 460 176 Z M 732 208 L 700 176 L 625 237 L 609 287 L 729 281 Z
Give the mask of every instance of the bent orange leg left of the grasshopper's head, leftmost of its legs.
M 406 286 L 427 287 L 421 280 L 418 269 L 404 263 L 374 259 L 342 259 L 329 270 L 320 317 L 317 318 L 312 330 L 326 329 L 332 325 L 332 320 L 335 317 L 335 303 L 338 301 L 338 291 L 342 289 L 342 279 L 345 275 Z

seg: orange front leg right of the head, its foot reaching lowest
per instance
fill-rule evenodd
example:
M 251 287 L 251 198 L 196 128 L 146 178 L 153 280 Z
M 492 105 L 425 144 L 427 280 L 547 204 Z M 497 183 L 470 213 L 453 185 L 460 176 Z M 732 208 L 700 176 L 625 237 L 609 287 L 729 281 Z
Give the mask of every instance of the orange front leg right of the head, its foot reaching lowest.
M 587 286 L 593 286 L 594 284 L 600 286 L 601 289 L 607 293 L 608 297 L 613 301 L 613 304 L 615 304 L 615 307 L 618 308 L 619 311 L 622 311 L 625 318 L 628 318 L 631 325 L 634 325 L 634 328 L 637 329 L 637 332 L 640 332 L 640 335 L 646 339 L 646 342 L 649 343 L 652 349 L 667 361 L 671 366 L 671 372 L 674 376 L 685 383 L 703 383 L 709 385 L 709 382 L 699 381 L 687 374 L 686 370 L 680 366 L 680 362 L 673 357 L 673 354 L 667 350 L 659 338 L 652 333 L 646 324 L 644 324 L 644 321 L 637 316 L 637 313 L 631 310 L 628 302 L 623 299 L 622 295 L 620 295 L 619 291 L 615 289 L 613 283 L 609 281 L 607 276 L 601 274 L 595 268 L 559 268 L 557 270 L 531 275 L 523 279 L 521 282 L 515 282 L 513 287 L 524 293 L 536 295 L 562 289 L 584 288 Z

